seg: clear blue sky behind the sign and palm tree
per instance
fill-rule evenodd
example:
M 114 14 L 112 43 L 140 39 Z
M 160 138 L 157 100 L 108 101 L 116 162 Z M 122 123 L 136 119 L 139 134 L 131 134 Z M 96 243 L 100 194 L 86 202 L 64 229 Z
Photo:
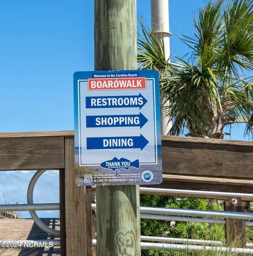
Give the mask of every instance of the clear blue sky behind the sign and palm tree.
M 172 54 L 187 53 L 178 36 L 193 34 L 192 14 L 203 2 L 169 1 Z M 149 25 L 150 1 L 137 0 L 137 7 Z M 73 130 L 73 74 L 94 69 L 93 1 L 1 1 L 0 34 L 0 132 Z M 231 139 L 244 139 L 242 128 L 232 127 Z M 31 177 L 0 172 L 0 204 L 1 194 L 10 204 L 26 203 Z M 34 202 L 56 203 L 58 191 L 57 172 L 45 173 Z

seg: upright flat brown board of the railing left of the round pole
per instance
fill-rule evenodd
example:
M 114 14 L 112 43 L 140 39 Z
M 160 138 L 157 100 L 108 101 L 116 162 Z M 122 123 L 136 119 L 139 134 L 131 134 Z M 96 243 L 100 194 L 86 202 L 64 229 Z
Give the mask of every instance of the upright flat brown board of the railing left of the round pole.
M 74 137 L 65 137 L 66 254 L 86 256 L 86 191 L 75 184 Z

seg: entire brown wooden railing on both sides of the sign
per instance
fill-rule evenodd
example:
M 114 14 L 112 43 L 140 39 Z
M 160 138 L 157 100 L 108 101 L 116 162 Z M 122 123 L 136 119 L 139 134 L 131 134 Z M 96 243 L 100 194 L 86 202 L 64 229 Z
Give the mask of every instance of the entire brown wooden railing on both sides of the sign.
M 252 193 L 253 142 L 162 136 L 162 153 L 163 182 L 155 187 Z M 0 134 L 0 170 L 38 169 L 60 170 L 61 254 L 93 255 L 94 195 L 75 184 L 73 131 Z M 226 200 L 229 211 L 244 211 L 248 200 L 205 198 Z M 244 221 L 226 224 L 231 237 L 243 231 Z

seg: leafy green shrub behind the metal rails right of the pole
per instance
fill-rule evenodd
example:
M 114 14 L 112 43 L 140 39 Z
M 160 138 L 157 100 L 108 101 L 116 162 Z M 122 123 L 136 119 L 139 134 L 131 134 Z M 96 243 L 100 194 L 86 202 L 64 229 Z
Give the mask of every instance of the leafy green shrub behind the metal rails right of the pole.
M 213 211 L 222 211 L 223 209 L 222 206 L 218 205 L 216 200 L 187 197 L 178 198 L 157 195 L 141 195 L 140 203 L 142 206 L 169 208 L 201 209 Z M 198 222 L 174 222 L 142 219 L 141 235 L 225 241 L 225 230 L 223 225 Z M 142 255 L 180 256 L 202 254 L 192 252 L 143 251 Z

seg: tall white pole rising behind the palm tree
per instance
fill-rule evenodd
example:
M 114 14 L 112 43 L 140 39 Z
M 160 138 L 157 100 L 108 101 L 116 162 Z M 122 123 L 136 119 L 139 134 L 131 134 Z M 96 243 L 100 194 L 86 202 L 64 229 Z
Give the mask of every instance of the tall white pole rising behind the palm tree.
M 169 0 L 151 0 L 151 29 L 155 39 L 164 45 L 164 56 L 170 61 Z M 165 106 L 168 103 L 165 103 Z M 161 109 L 161 133 L 168 135 L 171 122 Z

